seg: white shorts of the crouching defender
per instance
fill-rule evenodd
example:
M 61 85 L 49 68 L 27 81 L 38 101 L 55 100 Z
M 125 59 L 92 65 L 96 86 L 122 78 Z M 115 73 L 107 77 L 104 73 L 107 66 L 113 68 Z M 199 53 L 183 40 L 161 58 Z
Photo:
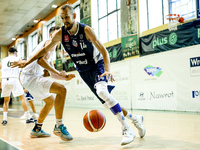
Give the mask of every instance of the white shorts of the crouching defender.
M 23 87 L 31 93 L 35 100 L 43 100 L 52 95 L 52 93 L 49 93 L 49 90 L 54 81 L 46 77 L 22 73 L 20 80 Z

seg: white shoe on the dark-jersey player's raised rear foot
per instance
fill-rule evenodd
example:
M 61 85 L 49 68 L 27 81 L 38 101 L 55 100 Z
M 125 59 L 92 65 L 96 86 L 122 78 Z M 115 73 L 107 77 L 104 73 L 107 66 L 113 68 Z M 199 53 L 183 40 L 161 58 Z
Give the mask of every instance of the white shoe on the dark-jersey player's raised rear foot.
M 135 115 L 135 116 L 137 119 L 133 121 L 133 124 L 138 129 L 138 133 L 140 137 L 143 138 L 146 133 L 146 129 L 143 126 L 144 117 L 142 115 Z

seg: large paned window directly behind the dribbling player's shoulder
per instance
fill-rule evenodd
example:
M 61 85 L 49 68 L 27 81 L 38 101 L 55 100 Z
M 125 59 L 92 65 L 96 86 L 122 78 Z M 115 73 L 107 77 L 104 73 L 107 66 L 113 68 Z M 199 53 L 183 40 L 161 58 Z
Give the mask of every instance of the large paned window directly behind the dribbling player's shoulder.
M 102 43 L 121 37 L 120 0 L 97 0 L 99 39 Z

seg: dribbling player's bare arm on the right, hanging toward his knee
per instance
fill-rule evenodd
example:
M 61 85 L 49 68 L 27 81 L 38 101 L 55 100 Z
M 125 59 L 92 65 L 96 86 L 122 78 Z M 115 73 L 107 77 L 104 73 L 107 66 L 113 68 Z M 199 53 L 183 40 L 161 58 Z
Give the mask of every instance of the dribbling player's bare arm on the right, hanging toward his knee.
M 95 47 L 99 50 L 99 52 L 103 56 L 105 72 L 101 75 L 101 77 L 106 76 L 106 79 L 108 81 L 111 81 L 111 82 L 115 81 L 113 78 L 113 75 L 110 73 L 110 57 L 109 57 L 108 51 L 103 46 L 103 44 L 97 39 L 92 28 L 90 28 L 89 26 L 85 26 L 84 31 L 86 34 L 86 38 L 95 45 Z

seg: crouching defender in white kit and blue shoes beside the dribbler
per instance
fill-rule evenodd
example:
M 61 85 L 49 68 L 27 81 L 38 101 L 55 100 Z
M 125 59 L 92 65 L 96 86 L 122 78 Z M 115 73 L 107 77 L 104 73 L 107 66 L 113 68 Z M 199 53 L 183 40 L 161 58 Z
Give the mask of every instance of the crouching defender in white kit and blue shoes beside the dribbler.
M 59 27 L 50 28 L 50 36 L 52 33 L 59 29 Z M 42 41 L 35 50 L 31 53 L 30 57 L 37 53 L 42 47 L 47 45 L 49 40 Z M 50 72 L 51 77 L 58 80 L 71 80 L 75 77 L 74 74 L 66 75 L 65 71 L 57 71 L 52 63 L 49 63 L 51 53 L 54 51 L 54 48 L 42 58 L 35 60 L 31 64 L 23 68 L 20 80 L 24 88 L 26 88 L 32 96 L 39 100 L 43 100 L 45 105 L 39 113 L 38 120 L 30 133 L 31 138 L 37 137 L 49 137 L 51 134 L 44 132 L 41 128 L 44 122 L 44 119 L 52 109 L 55 107 L 56 115 L 56 125 L 54 127 L 54 134 L 59 136 L 64 141 L 70 141 L 73 137 L 69 134 L 66 127 L 62 123 L 63 109 L 66 98 L 66 88 L 60 83 L 50 80 L 49 78 L 43 77 L 44 68 Z M 56 94 L 54 98 L 52 93 Z

